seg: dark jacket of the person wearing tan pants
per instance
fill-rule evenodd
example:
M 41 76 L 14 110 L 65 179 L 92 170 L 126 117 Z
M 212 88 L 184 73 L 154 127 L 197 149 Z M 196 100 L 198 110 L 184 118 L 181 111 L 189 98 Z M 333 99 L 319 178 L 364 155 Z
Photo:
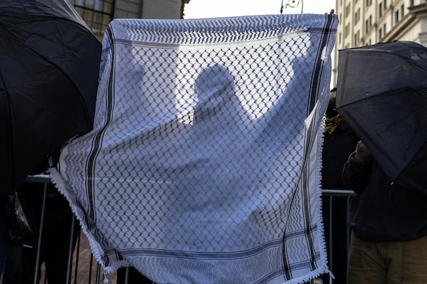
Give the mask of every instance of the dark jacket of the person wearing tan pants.
M 349 209 L 349 226 L 364 241 L 410 241 L 427 235 L 426 192 L 392 182 L 376 160 L 344 164 L 344 184 L 359 193 Z

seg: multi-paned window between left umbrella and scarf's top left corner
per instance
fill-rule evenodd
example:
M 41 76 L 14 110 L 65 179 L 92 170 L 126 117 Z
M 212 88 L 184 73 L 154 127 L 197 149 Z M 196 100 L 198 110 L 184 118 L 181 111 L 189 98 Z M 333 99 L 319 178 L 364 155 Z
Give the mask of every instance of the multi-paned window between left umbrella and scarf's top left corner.
M 112 20 L 115 0 L 75 0 L 74 7 L 95 35 L 102 35 Z

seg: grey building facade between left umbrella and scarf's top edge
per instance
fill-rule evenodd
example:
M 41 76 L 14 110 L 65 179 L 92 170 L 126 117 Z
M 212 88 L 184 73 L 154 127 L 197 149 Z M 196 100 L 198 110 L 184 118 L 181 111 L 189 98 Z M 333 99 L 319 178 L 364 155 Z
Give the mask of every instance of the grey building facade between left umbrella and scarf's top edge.
M 98 38 L 113 18 L 183 18 L 190 0 L 68 0 Z

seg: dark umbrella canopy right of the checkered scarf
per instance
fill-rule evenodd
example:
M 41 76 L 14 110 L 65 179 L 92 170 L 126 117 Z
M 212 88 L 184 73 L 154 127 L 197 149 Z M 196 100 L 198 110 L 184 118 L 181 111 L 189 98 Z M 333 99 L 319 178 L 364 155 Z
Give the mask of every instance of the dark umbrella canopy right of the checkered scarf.
M 339 50 L 337 110 L 391 180 L 427 189 L 427 48 Z

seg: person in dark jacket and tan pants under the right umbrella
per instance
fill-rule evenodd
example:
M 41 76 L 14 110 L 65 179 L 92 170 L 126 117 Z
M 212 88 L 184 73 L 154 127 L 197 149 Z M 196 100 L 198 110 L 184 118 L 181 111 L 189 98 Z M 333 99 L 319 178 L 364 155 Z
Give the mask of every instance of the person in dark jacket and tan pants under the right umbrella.
M 362 141 L 344 164 L 352 229 L 347 283 L 427 283 L 425 191 L 388 178 Z

